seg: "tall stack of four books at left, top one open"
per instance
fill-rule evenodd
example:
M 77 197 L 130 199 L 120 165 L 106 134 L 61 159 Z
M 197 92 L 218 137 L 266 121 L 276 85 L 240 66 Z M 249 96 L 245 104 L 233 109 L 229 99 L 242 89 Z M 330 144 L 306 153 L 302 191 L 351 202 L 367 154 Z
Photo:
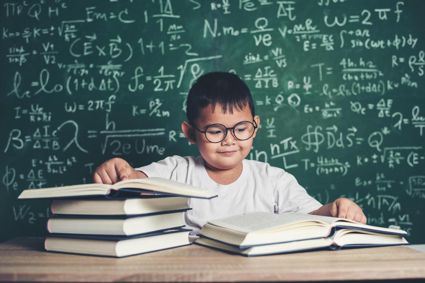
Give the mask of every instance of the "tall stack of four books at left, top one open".
M 190 245 L 191 230 L 184 229 L 182 219 L 191 209 L 188 197 L 215 196 L 207 189 L 149 177 L 25 190 L 18 199 L 51 199 L 47 251 L 124 257 Z

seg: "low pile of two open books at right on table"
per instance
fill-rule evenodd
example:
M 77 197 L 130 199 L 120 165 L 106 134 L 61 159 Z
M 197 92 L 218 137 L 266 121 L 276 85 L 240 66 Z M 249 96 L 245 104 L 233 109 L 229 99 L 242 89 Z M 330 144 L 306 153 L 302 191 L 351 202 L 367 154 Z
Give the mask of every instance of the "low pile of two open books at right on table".
M 207 221 L 195 244 L 244 256 L 406 245 L 406 231 L 328 216 L 250 212 Z

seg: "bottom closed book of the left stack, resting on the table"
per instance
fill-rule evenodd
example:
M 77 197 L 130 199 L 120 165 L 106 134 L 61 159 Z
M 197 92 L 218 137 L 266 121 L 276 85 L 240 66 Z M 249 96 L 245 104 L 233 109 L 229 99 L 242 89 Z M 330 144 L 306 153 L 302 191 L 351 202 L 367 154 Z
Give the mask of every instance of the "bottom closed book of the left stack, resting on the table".
M 136 236 L 50 234 L 44 247 L 49 252 L 125 257 L 190 245 L 190 229 L 173 229 Z

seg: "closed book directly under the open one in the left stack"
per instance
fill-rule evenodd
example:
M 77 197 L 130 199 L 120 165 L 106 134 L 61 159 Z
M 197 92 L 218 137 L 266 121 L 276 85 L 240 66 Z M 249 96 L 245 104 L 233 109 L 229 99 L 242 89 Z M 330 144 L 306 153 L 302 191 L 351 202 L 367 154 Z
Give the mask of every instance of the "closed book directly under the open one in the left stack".
M 136 215 L 161 211 L 188 209 L 187 197 L 144 195 L 113 199 L 54 199 L 51 212 L 81 215 Z

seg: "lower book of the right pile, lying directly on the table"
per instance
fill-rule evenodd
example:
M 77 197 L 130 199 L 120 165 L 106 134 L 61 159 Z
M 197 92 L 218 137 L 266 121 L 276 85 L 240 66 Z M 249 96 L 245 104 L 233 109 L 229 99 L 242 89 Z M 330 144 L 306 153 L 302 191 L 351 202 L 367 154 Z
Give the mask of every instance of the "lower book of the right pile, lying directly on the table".
M 203 235 L 199 236 L 200 238 L 195 241 L 195 244 L 244 256 L 274 255 L 314 249 L 337 250 L 350 247 L 380 247 L 409 244 L 400 235 L 382 234 L 365 230 L 359 233 L 359 230 L 346 228 L 336 230 L 333 235 L 326 238 L 314 238 L 245 248 L 216 241 Z

